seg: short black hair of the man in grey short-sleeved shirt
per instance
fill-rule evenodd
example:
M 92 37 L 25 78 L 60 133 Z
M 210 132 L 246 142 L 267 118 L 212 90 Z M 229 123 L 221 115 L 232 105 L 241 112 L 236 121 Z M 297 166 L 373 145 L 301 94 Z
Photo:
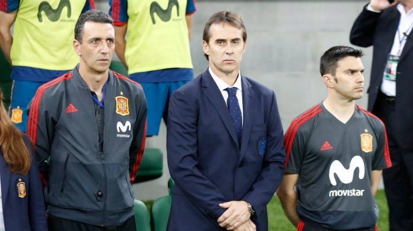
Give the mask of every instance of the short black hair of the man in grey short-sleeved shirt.
M 325 74 L 334 76 L 338 61 L 349 56 L 361 58 L 363 55 L 363 51 L 360 49 L 358 50 L 347 46 L 331 47 L 321 56 L 320 74 L 321 76 Z

